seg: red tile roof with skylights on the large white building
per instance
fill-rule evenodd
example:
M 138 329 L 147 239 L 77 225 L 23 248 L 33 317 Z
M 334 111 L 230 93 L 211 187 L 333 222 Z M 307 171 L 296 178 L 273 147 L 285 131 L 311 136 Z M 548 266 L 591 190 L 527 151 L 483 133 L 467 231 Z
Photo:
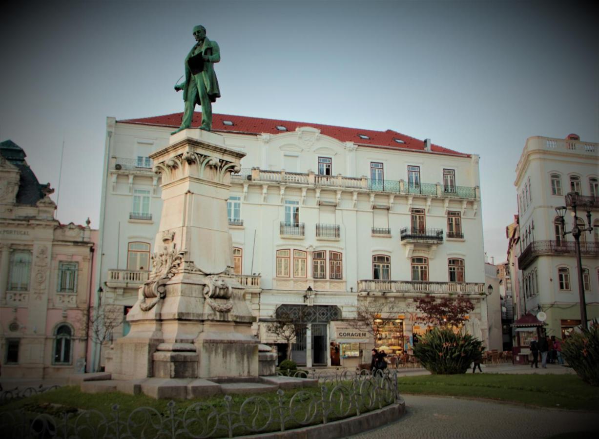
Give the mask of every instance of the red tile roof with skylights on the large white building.
M 140 125 L 168 126 L 177 128 L 181 125 L 181 116 L 183 113 L 165 114 L 164 116 L 143 117 L 141 119 L 119 120 L 123 123 L 137 123 Z M 192 126 L 201 125 L 202 113 L 196 111 L 193 113 Z M 233 125 L 225 125 L 223 120 L 231 121 Z M 386 131 L 374 131 L 372 129 L 347 128 L 345 126 L 322 125 L 320 123 L 292 122 L 291 120 L 264 119 L 261 117 L 233 116 L 232 114 L 213 114 L 212 129 L 216 132 L 238 132 L 242 134 L 281 134 L 285 131 L 279 131 L 278 126 L 285 126 L 287 131 L 295 131 L 300 126 L 311 126 L 317 128 L 324 135 L 328 135 L 341 142 L 354 142 L 361 146 L 371 147 L 392 147 L 397 149 L 409 149 L 415 151 L 424 151 L 422 140 L 401 134 L 397 131 L 388 129 Z M 367 139 L 359 135 L 368 136 Z M 398 143 L 395 139 L 404 143 Z M 453 151 L 442 146 L 431 144 L 432 152 L 448 155 L 470 157 L 469 154 Z

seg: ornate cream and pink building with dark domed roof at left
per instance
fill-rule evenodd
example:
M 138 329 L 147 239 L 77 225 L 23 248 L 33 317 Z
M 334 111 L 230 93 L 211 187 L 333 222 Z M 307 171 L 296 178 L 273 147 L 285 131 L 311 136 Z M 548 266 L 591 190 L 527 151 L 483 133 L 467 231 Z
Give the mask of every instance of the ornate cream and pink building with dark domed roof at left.
M 50 184 L 25 152 L 0 143 L 0 361 L 2 377 L 83 373 L 96 232 L 54 219 Z

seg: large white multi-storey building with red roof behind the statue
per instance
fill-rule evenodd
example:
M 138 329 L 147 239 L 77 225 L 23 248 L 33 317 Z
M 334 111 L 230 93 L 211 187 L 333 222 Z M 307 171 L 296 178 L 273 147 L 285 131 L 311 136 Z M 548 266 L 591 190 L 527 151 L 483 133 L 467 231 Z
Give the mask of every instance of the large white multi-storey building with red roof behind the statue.
M 161 215 L 149 156 L 180 116 L 107 120 L 98 287 L 125 312 L 147 278 Z M 232 177 L 229 228 L 263 342 L 280 342 L 267 324 L 285 311 L 308 323 L 294 359 L 331 364 L 332 342 L 343 364 L 357 365 L 372 340 L 348 335 L 347 320 L 359 303 L 384 301 L 398 311 L 381 316 L 389 330 L 377 346 L 400 352 L 404 336 L 426 329 L 413 303 L 425 293 L 468 295 L 471 330 L 486 341 L 478 156 L 391 130 L 224 114 L 213 130 L 246 154 Z

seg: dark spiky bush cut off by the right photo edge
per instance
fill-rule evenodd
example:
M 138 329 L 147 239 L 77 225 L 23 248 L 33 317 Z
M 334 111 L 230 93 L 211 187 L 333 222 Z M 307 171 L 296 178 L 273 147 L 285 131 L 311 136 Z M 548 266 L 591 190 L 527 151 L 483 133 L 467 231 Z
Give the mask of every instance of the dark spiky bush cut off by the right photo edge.
M 578 376 L 591 386 L 599 386 L 599 325 L 572 331 L 562 343 L 562 355 Z

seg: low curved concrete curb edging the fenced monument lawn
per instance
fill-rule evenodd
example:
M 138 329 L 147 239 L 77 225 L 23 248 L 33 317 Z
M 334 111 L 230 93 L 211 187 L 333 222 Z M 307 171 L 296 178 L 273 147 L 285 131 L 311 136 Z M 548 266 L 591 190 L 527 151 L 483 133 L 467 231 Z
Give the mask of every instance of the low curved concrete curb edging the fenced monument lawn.
M 400 396 L 400 402 L 369 411 L 359 416 L 336 420 L 326 424 L 311 425 L 287 431 L 237 436 L 243 438 L 264 439 L 335 439 L 363 433 L 374 428 L 395 422 L 406 414 L 406 402 Z

